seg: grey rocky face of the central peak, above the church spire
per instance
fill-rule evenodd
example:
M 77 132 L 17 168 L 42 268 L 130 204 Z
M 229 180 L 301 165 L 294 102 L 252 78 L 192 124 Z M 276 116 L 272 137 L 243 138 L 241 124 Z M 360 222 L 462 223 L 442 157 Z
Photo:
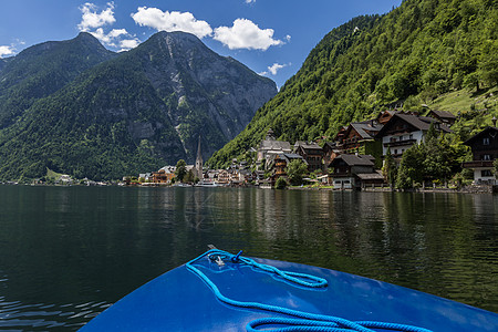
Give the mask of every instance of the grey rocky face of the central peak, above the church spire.
M 229 142 L 277 93 L 274 83 L 184 32 L 159 32 L 128 54 L 165 102 L 189 162 L 203 139 L 207 158 Z

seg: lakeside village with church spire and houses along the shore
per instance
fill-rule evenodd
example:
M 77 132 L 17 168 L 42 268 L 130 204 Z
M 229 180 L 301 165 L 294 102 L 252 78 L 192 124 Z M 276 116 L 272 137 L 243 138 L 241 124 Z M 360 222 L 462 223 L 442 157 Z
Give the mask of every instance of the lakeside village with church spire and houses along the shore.
M 404 153 L 424 142 L 429 128 L 437 135 L 452 133 L 456 116 L 450 112 L 429 111 L 426 116 L 402 111 L 384 111 L 375 118 L 350 123 L 342 127 L 332 142 L 303 142 L 294 145 L 278 141 L 270 128 L 258 147 L 246 155 L 249 160 L 234 159 L 226 169 L 208 169 L 204 166 L 200 137 L 195 165 L 165 166 L 157 172 L 125 177 L 126 185 L 141 186 L 258 186 L 279 187 L 279 178 L 289 180 L 291 163 L 305 165 L 300 180 L 302 187 L 330 189 L 392 189 L 383 166 L 386 158 L 400 164 Z M 494 160 L 498 158 L 498 128 L 486 127 L 464 144 L 471 149 L 473 160 L 461 167 L 474 174 L 473 185 L 496 185 Z M 295 162 L 298 160 L 298 162 Z M 181 167 L 179 172 L 178 167 Z M 180 177 L 180 178 L 179 178 Z M 426 184 L 423 183 L 425 187 Z M 436 186 L 435 183 L 432 186 Z M 444 186 L 447 188 L 448 184 Z

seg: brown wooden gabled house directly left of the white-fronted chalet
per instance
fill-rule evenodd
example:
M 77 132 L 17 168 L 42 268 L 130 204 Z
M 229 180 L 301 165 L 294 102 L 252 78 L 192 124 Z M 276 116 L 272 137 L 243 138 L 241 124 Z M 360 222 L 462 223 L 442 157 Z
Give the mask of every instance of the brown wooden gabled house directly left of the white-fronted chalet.
M 382 143 L 375 141 L 375 135 L 383 126 L 376 120 L 353 122 L 338 133 L 335 146 L 342 154 L 372 155 L 381 160 Z

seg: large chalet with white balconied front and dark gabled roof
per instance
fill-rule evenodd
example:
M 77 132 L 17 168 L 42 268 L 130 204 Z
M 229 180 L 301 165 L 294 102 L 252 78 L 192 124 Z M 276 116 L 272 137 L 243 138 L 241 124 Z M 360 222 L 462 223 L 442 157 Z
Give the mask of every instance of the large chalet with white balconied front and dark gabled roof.
M 433 117 L 401 112 L 394 114 L 375 135 L 375 139 L 382 142 L 382 155 L 385 156 L 387 149 L 391 149 L 392 156 L 401 159 L 405 151 L 424 141 L 433 123 L 438 132 L 452 132 L 446 125 L 440 124 Z

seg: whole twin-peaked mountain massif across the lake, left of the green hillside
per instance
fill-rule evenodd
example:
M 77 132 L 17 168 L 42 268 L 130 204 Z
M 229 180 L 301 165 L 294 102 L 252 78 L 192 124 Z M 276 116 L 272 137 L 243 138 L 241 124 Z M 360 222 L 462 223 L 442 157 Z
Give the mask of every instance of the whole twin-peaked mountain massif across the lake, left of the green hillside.
M 100 45 L 86 33 L 77 40 Z M 54 52 L 60 44 L 66 53 Z M 9 82 L 0 92 L 22 105 L 0 114 L 0 178 L 41 177 L 46 168 L 93 179 L 151 172 L 194 162 L 199 135 L 207 159 L 277 93 L 271 80 L 183 32 L 156 33 L 120 54 L 97 48 L 85 55 L 93 64 L 77 66 L 68 54 L 83 52 L 49 42 L 0 69 Z

